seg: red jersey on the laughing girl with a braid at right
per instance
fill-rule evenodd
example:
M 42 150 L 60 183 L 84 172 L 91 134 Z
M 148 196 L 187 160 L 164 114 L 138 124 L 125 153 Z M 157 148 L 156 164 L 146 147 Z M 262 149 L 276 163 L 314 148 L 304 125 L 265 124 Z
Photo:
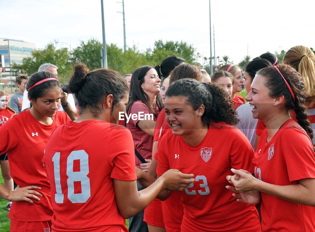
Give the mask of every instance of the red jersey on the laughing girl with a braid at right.
M 256 178 L 273 185 L 294 185 L 315 178 L 315 153 L 305 130 L 287 120 L 267 143 L 261 134 L 253 163 Z M 315 208 L 261 192 L 261 226 L 264 232 L 315 231 Z

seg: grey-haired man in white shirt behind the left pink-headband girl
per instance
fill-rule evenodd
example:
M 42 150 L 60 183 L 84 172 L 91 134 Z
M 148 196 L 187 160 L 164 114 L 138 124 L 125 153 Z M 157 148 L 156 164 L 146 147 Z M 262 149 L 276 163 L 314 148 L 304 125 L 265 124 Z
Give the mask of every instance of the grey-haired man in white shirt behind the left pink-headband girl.
M 58 79 L 57 69 L 58 67 L 56 65 L 46 63 L 39 66 L 38 72 L 42 72 L 42 71 L 50 72 L 54 74 Z M 23 94 L 22 111 L 30 107 L 30 101 L 28 100 L 27 95 L 28 95 L 28 92 L 25 90 Z M 60 102 L 61 104 L 58 110 L 65 111 L 72 121 L 77 119 L 77 111 L 75 110 L 76 106 L 75 106 L 73 95 L 67 94 L 61 91 Z

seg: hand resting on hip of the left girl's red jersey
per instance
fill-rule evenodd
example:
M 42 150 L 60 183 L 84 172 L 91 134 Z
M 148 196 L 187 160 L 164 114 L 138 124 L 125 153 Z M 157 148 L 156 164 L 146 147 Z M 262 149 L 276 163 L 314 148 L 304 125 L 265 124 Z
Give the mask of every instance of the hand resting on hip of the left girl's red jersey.
M 26 201 L 33 205 L 34 202 L 30 198 L 40 201 L 40 199 L 37 196 L 43 196 L 42 194 L 40 194 L 39 192 L 33 189 L 41 189 L 41 188 L 35 185 L 20 188 L 20 186 L 18 185 L 14 189 L 14 191 L 9 192 L 9 197 L 7 200 L 11 202 Z

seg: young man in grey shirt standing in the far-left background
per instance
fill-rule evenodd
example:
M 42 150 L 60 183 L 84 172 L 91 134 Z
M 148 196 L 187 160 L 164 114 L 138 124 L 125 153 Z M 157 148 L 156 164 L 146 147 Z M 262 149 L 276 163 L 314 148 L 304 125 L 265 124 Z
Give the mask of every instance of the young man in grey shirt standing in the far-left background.
M 25 84 L 28 80 L 28 75 L 21 74 L 18 75 L 15 79 L 16 85 L 19 88 L 19 91 L 14 93 L 10 100 L 10 108 L 15 111 L 15 113 L 21 113 L 22 102 L 23 102 L 23 93 L 25 90 Z

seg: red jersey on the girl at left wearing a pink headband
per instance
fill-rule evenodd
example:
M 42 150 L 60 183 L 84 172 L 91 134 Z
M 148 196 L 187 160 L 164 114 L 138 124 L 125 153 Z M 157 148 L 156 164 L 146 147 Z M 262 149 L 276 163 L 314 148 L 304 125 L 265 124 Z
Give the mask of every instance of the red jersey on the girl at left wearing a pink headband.
M 51 125 L 38 122 L 29 110 L 14 115 L 0 127 L 0 154 L 8 153 L 10 174 L 20 187 L 37 185 L 42 193 L 40 201 L 13 202 L 9 218 L 15 221 L 50 221 L 53 216 L 50 200 L 50 185 L 43 168 L 42 158 L 47 141 L 53 130 L 70 118 L 57 111 Z

